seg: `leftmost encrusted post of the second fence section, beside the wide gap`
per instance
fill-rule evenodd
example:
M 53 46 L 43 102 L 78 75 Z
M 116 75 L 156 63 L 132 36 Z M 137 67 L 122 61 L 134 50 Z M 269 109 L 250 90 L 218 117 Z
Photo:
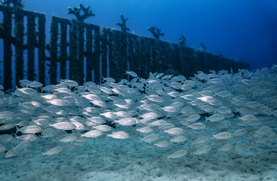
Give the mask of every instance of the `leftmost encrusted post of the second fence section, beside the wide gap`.
M 57 84 L 58 23 L 54 17 L 50 21 L 50 84 Z

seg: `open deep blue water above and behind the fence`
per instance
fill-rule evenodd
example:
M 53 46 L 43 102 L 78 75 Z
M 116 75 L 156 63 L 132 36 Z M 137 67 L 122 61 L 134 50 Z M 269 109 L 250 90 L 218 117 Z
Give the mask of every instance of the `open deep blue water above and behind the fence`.
M 207 52 L 221 51 L 224 57 L 250 63 L 252 69 L 277 64 L 276 0 L 25 0 L 25 9 L 46 13 L 48 43 L 52 13 L 75 18 L 67 7 L 79 3 L 90 5 L 96 14 L 85 22 L 100 27 L 120 28 L 116 22 L 123 14 L 129 18 L 130 32 L 139 35 L 153 37 L 147 27 L 155 25 L 165 32 L 162 40 L 177 43 L 185 35 L 187 46 L 200 48 L 202 42 Z

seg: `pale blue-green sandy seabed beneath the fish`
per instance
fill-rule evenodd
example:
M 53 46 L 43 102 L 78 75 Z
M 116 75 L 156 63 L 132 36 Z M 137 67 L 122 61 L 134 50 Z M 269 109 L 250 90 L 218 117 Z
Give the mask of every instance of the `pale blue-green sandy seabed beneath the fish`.
M 257 116 L 259 120 L 266 118 L 268 117 Z M 232 122 L 235 118 L 229 120 Z M 267 124 L 260 126 L 263 125 Z M 276 133 L 276 123 L 268 126 Z M 229 132 L 233 133 L 242 126 L 239 127 L 233 125 Z M 244 129 L 250 127 L 245 126 Z M 205 130 L 210 132 L 212 128 Z M 211 132 L 214 133 L 215 130 Z M 171 146 L 166 148 L 146 142 L 138 144 L 138 138 L 109 137 L 102 141 L 92 139 L 86 145 L 77 146 L 70 152 L 61 152 L 58 156 L 46 155 L 40 158 L 38 150 L 51 145 L 51 139 L 45 138 L 42 143 L 35 141 L 35 148 L 27 148 L 32 153 L 27 161 L 21 162 L 21 154 L 5 158 L 5 153 L 0 152 L 0 180 L 277 180 L 276 142 L 251 146 L 247 141 L 251 138 L 250 135 L 229 142 L 234 146 L 248 144 L 246 151 L 217 151 L 221 146 L 212 145 L 207 154 L 193 156 L 188 153 L 178 159 L 165 159 L 180 149 L 192 152 L 200 148 L 201 146 L 191 147 L 191 142 L 195 140 L 190 138 L 193 133 L 195 132 L 184 135 L 188 141 L 171 142 Z M 165 135 L 155 134 L 161 136 L 156 142 L 167 141 Z M 58 146 L 63 145 L 65 144 L 60 143 Z

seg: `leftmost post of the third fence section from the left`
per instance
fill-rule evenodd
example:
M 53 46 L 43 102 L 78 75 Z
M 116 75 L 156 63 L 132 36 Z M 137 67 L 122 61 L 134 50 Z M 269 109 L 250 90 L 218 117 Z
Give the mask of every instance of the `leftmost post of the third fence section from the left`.
M 108 33 L 107 33 L 107 29 L 105 27 L 103 27 L 101 30 L 101 37 L 102 37 L 102 45 L 101 45 L 101 49 L 102 49 L 101 71 L 102 72 L 101 72 L 101 74 L 103 77 L 106 78 L 107 77 Z

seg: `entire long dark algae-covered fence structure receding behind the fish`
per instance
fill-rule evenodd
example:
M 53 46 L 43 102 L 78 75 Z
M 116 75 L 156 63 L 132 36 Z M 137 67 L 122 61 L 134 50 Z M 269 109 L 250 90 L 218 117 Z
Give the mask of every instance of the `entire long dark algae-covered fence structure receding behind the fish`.
M 139 36 L 121 30 L 100 27 L 74 19 L 53 15 L 50 21 L 50 42 L 45 44 L 45 14 L 0 5 L 3 13 L 0 38 L 4 46 L 4 89 L 12 87 L 12 45 L 15 46 L 15 81 L 23 79 L 23 51 L 27 49 L 27 79 L 35 79 L 35 48 L 38 49 L 38 81 L 45 85 L 45 60 L 50 61 L 50 84 L 57 84 L 57 63 L 60 63 L 60 78 L 79 83 L 94 81 L 99 83 L 101 76 L 113 77 L 116 81 L 127 78 L 125 70 L 135 71 L 140 77 L 147 78 L 149 72 L 164 72 L 186 77 L 197 70 L 222 70 L 248 68 L 249 64 L 195 50 L 181 44 L 170 43 Z M 14 28 L 12 15 L 14 14 Z M 27 16 L 27 44 L 24 44 L 24 16 Z M 38 19 L 38 31 L 35 29 Z M 68 29 L 69 27 L 69 29 Z M 14 31 L 14 37 L 12 36 Z M 69 37 L 67 37 L 69 32 Z M 68 52 L 69 46 L 69 52 Z M 45 49 L 50 57 L 45 56 Z M 84 62 L 85 60 L 85 62 Z M 69 70 L 66 69 L 67 61 Z M 84 63 L 86 65 L 84 70 Z M 85 75 L 86 74 L 86 75 Z M 84 77 L 86 80 L 84 80 Z M 82 84 L 80 84 L 82 85 Z

